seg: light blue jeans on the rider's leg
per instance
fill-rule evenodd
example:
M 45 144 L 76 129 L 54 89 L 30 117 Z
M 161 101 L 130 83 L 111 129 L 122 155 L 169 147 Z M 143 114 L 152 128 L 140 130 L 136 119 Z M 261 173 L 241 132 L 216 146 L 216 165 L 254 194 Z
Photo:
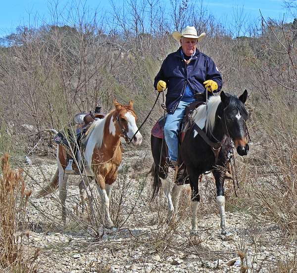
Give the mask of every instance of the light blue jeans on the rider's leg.
M 195 99 L 180 101 L 173 114 L 167 114 L 164 125 L 164 136 L 168 146 L 169 159 L 177 161 L 178 158 L 178 131 L 185 115 L 186 106 Z

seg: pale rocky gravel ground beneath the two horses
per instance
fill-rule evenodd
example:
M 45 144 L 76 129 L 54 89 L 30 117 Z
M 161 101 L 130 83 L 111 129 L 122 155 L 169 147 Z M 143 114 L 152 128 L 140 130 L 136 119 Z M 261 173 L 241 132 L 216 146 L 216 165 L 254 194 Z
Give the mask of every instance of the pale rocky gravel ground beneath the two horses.
M 200 187 L 198 233 L 190 232 L 187 191 L 181 197 L 178 223 L 168 226 L 162 193 L 150 202 L 152 178 L 146 175 L 151 166 L 150 151 L 127 150 L 123 157 L 111 198 L 116 223 L 112 229 L 102 228 L 98 214 L 95 223 L 90 204 L 82 213 L 78 177 L 69 179 L 69 217 L 64 225 L 57 194 L 34 198 L 55 172 L 54 160 L 33 159 L 33 165 L 25 167 L 27 187 L 34 189 L 27 244 L 32 252 L 41 250 L 39 272 L 246 272 L 244 266 L 248 272 L 277 272 L 280 262 L 286 264 L 296 257 L 294 239 L 288 240 L 285 232 L 273 224 L 260 223 L 249 208 L 227 205 L 232 236 L 221 235 L 211 176 L 204 178 Z M 93 182 L 90 187 L 94 187 Z M 99 207 L 96 188 L 92 192 L 92 206 Z

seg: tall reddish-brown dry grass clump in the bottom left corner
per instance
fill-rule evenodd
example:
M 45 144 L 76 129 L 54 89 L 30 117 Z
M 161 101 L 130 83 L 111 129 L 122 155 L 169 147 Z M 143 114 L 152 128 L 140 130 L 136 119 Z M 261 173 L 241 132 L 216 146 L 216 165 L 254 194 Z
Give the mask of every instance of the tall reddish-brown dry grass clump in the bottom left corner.
M 29 233 L 23 232 L 32 191 L 26 190 L 22 170 L 12 170 L 8 158 L 8 154 L 4 154 L 1 159 L 0 267 L 6 272 L 34 273 L 37 272 L 39 250 L 30 256 L 29 249 L 25 248 Z

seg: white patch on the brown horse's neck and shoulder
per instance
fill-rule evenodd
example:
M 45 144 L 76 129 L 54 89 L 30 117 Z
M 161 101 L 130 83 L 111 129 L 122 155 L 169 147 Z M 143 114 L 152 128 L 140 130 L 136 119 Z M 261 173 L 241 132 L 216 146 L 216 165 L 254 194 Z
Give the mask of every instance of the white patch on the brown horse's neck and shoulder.
M 104 119 L 94 121 L 90 127 L 89 137 L 87 138 L 87 145 L 84 153 L 89 166 L 92 165 L 92 156 L 95 147 L 100 148 L 102 145 L 106 117 Z

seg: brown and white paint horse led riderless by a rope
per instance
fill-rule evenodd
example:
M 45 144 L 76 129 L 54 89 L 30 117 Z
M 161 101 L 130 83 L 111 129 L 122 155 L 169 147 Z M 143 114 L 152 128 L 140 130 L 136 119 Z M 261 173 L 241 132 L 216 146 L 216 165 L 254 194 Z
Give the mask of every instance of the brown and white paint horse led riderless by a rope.
M 112 183 L 115 182 L 118 174 L 118 167 L 122 162 L 122 151 L 120 137 L 125 137 L 139 146 L 142 142 L 142 135 L 138 132 L 136 125 L 137 116 L 133 110 L 133 101 L 129 105 L 121 105 L 115 99 L 115 109 L 103 119 L 95 120 L 91 125 L 87 137 L 83 140 L 85 149 L 82 151 L 85 160 L 84 170 L 81 171 L 85 177 L 91 177 L 97 183 L 98 191 L 102 198 L 105 227 L 112 227 L 113 223 L 109 214 L 109 199 Z M 133 137 L 134 136 L 134 137 Z M 131 139 L 133 137 L 133 139 Z M 62 205 L 62 220 L 66 221 L 66 196 L 67 179 L 65 173 L 67 166 L 67 152 L 62 145 L 57 146 L 57 170 L 50 184 L 40 190 L 37 197 L 46 196 L 55 188 L 59 188 L 59 198 Z M 80 174 L 75 163 L 72 166 L 75 174 Z M 80 192 L 82 183 L 80 184 Z

